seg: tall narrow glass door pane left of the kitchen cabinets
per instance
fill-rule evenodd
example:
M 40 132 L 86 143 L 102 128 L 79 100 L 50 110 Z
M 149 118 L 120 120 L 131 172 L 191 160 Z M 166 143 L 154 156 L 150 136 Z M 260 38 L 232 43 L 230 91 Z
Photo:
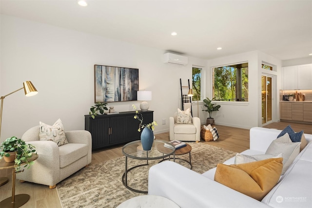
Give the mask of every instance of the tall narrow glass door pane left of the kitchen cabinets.
M 272 77 L 261 76 L 262 124 L 272 121 Z

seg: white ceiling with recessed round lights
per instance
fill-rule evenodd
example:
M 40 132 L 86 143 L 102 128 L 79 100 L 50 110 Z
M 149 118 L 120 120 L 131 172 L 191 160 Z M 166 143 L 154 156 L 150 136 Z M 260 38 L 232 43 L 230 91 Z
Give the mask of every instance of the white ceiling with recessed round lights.
M 87 7 L 77 0 L 0 0 L 0 9 L 9 16 L 204 59 L 254 50 L 281 60 L 312 53 L 312 0 L 86 1 Z

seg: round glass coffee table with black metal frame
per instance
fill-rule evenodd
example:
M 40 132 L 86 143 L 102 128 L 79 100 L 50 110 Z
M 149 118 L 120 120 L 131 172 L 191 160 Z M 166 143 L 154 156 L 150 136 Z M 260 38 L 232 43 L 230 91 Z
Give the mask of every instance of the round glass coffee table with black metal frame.
M 157 149 L 157 146 L 159 145 L 163 146 L 164 144 L 171 145 L 173 149 L 165 148 L 165 149 L 162 149 L 162 151 L 159 151 Z M 128 172 L 130 170 L 136 169 L 141 166 L 148 166 L 149 160 L 163 159 L 166 157 L 170 158 L 170 155 L 173 155 L 173 160 L 175 161 L 175 158 L 176 158 L 175 149 L 176 148 L 174 147 L 174 145 L 172 145 L 169 142 L 162 141 L 162 140 L 154 140 L 152 149 L 150 151 L 144 151 L 141 149 L 141 140 L 133 141 L 124 145 L 122 147 L 122 153 L 125 155 L 126 158 L 125 158 L 125 172 L 122 175 L 122 184 L 129 190 L 132 190 L 138 193 L 147 193 L 147 191 L 145 190 L 137 190 L 128 186 L 127 184 Z M 128 157 L 132 159 L 136 159 L 136 160 L 146 160 L 146 163 L 140 164 L 140 165 L 137 165 L 128 169 Z

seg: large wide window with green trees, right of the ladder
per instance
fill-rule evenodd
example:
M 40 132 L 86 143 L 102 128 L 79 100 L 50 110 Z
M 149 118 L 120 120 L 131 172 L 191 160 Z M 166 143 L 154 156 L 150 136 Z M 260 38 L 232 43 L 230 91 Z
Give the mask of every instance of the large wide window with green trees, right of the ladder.
M 220 101 L 248 101 L 248 63 L 213 68 L 213 97 Z

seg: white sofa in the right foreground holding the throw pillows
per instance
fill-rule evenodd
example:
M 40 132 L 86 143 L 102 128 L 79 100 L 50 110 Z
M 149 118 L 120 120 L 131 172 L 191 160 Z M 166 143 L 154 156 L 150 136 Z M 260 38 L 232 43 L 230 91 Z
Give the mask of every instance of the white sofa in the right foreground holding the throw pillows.
M 242 154 L 264 154 L 280 130 L 254 127 L 250 130 L 250 150 Z M 149 170 L 148 194 L 163 196 L 181 208 L 311 208 L 312 134 L 305 133 L 307 146 L 298 154 L 277 185 L 257 201 L 214 181 L 215 170 L 196 173 L 172 161 Z M 234 164 L 234 157 L 224 164 Z

